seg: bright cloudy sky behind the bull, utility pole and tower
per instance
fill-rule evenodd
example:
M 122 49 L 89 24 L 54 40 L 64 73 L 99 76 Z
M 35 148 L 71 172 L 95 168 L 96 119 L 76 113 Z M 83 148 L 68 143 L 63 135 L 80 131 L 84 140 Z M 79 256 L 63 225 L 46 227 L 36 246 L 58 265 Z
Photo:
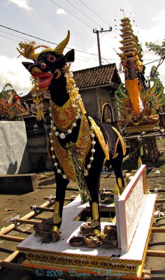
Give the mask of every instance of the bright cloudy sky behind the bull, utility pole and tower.
M 69 48 L 76 50 L 74 71 L 99 65 L 93 29 L 108 30 L 110 26 L 113 31 L 99 33 L 102 64 L 115 62 L 118 67 L 120 19 L 125 15 L 130 18 L 134 34 L 142 43 L 147 77 L 150 67 L 157 65 L 157 62 L 150 62 L 159 57 L 148 51 L 145 42 L 161 45 L 165 35 L 164 0 L 1 0 L 0 15 L 0 90 L 5 83 L 11 83 L 18 94 L 27 94 L 31 89 L 29 73 L 21 63 L 25 59 L 17 58 L 16 48 L 20 41 L 34 40 L 55 47 L 69 29 L 71 39 L 64 53 Z M 165 62 L 159 73 L 165 86 Z M 123 73 L 120 76 L 123 78 Z

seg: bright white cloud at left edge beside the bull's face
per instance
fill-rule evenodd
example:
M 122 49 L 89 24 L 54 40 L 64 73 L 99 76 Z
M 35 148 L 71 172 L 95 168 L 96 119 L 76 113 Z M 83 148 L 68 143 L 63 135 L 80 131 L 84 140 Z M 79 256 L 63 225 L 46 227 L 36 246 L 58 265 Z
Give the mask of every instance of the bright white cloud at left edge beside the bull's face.
M 6 83 L 10 83 L 18 94 L 27 94 L 31 90 L 29 79 L 30 74 L 22 65 L 22 59 L 0 56 L 0 90 Z

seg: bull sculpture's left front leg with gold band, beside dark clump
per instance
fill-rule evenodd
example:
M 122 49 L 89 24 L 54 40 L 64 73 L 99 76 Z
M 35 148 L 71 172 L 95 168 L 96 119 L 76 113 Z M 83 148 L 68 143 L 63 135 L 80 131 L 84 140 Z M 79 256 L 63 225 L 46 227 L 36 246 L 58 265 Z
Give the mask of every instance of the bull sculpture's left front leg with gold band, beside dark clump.
M 62 225 L 62 210 L 64 207 L 65 192 L 66 192 L 66 187 L 69 183 L 69 180 L 62 178 L 62 174 L 56 173 L 55 178 L 56 178 L 56 200 L 55 200 L 55 211 L 52 217 L 53 241 L 59 240 L 59 229 L 60 226 Z

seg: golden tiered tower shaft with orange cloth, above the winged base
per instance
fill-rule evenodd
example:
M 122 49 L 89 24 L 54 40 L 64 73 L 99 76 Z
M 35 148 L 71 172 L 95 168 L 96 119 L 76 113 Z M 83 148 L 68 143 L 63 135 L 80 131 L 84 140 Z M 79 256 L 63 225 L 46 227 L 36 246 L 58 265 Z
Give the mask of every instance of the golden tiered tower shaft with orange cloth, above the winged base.
M 134 113 L 138 115 L 143 111 L 141 95 L 143 91 L 143 80 L 141 79 L 143 65 L 141 52 L 138 48 L 138 41 L 131 28 L 129 18 L 122 18 L 120 31 L 122 34 L 122 53 L 119 54 L 124 69 L 125 87 L 129 94 Z

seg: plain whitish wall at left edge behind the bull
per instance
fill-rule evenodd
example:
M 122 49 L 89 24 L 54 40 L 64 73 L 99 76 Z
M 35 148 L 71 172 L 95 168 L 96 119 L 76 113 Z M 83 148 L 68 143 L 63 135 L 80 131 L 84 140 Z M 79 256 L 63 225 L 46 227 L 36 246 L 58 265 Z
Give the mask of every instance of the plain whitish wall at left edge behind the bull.
M 0 121 L 0 174 L 23 174 L 30 170 L 24 122 Z

